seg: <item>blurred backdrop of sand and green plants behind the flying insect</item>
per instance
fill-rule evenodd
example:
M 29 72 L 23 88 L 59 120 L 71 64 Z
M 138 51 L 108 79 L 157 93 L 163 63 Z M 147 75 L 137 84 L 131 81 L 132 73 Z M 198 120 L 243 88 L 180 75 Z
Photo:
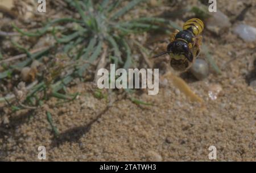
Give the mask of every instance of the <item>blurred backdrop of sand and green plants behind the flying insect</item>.
M 256 2 L 0 0 L 0 160 L 256 160 Z M 45 12 L 44 12 L 45 11 Z M 163 75 L 170 35 L 205 24 L 201 53 Z M 100 90 L 100 68 L 159 68 L 159 93 Z

